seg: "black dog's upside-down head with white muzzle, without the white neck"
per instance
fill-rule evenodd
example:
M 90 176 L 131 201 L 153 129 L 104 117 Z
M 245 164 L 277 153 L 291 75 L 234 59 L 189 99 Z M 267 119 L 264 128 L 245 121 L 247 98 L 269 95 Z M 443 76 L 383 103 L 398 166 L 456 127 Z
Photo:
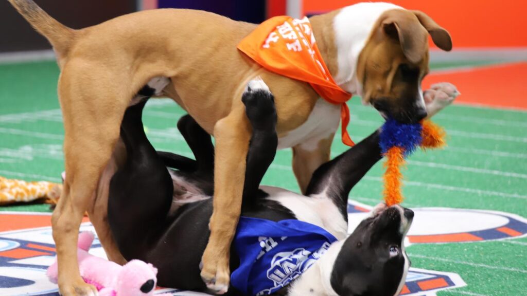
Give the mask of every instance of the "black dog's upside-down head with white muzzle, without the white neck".
M 331 288 L 340 296 L 397 295 L 410 266 L 404 238 L 413 217 L 402 206 L 377 205 L 340 248 Z

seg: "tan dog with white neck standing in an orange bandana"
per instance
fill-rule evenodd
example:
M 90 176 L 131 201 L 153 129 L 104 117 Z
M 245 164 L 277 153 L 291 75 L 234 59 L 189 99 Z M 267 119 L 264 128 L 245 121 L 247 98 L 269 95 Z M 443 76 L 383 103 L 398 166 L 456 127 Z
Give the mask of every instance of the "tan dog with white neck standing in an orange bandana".
M 62 295 L 95 294 L 82 281 L 75 254 L 85 210 L 110 259 L 123 261 L 106 223 L 108 181 L 122 156 L 116 143 L 123 113 L 147 84 L 154 95 L 173 98 L 216 138 L 214 213 L 201 274 L 209 288 L 225 292 L 251 135 L 240 100 L 243 86 L 257 75 L 269 85 L 279 147 L 292 147 L 302 191 L 312 172 L 329 160 L 340 107 L 322 101 L 309 84 L 267 72 L 238 52 L 236 45 L 253 24 L 201 11 L 158 9 L 74 30 L 31 0 L 9 2 L 48 38 L 61 68 L 67 178 L 52 220 Z M 420 84 L 428 72 L 428 33 L 438 47 L 450 50 L 445 29 L 421 12 L 386 3 L 353 5 L 310 22 L 344 90 L 402 121 L 426 116 Z

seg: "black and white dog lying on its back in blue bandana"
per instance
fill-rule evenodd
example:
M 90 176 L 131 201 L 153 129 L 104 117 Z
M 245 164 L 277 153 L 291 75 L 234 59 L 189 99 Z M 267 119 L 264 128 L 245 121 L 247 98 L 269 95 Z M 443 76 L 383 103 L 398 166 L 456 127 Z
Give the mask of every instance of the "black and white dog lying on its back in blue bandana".
M 213 207 L 213 144 L 210 136 L 186 115 L 179 120 L 178 129 L 196 160 L 155 151 L 141 121 L 149 90 L 142 90 L 139 96 L 143 100 L 128 108 L 121 125 L 127 159 L 110 183 L 111 230 L 126 259 L 141 259 L 158 268 L 161 286 L 204 291 L 199 266 Z M 347 235 L 348 194 L 382 158 L 379 132 L 321 165 L 306 195 L 299 195 L 260 186 L 277 148 L 276 111 L 269 89 L 263 81 L 253 80 L 242 101 L 253 128 L 242 216 L 275 222 L 304 221 L 336 238 L 309 269 L 280 287 L 278 293 L 397 295 L 410 266 L 404 239 L 414 213 L 399 205 L 388 208 L 379 204 Z M 234 249 L 231 271 L 240 265 Z M 232 288 L 228 293 L 242 294 Z

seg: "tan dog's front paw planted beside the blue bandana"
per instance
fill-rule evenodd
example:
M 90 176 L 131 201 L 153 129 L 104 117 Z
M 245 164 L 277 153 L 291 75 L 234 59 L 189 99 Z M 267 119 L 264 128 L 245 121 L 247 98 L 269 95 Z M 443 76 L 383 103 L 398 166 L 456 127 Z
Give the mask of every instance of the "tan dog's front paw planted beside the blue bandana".
M 229 257 L 227 256 L 226 259 L 222 258 L 225 256 L 219 255 L 209 257 L 207 250 L 201 258 L 201 279 L 215 294 L 225 294 L 230 282 Z

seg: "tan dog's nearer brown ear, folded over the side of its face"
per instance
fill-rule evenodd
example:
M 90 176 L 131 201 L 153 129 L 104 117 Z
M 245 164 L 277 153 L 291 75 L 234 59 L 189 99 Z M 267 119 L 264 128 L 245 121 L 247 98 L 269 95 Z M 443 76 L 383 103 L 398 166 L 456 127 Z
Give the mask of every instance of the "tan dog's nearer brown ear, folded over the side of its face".
M 401 43 L 408 61 L 417 64 L 423 59 L 427 50 L 428 32 L 412 13 L 393 9 L 388 11 L 382 25 L 389 37 Z

